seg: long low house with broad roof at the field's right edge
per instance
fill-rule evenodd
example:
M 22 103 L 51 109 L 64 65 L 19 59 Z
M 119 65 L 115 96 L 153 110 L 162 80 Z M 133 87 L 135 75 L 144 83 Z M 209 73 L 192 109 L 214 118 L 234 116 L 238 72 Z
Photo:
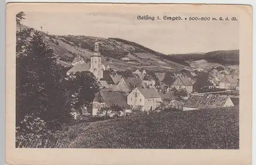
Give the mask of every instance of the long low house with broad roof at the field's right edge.
M 183 105 L 183 111 L 234 106 L 231 99 L 221 95 L 193 95 Z

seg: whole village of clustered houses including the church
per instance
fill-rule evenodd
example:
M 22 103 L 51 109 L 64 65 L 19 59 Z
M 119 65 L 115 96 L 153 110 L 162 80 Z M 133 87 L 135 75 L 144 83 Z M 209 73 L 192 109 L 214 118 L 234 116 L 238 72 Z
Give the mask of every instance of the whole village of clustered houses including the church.
M 166 73 L 148 74 L 145 69 L 136 69 L 131 76 L 118 75 L 110 72 L 110 66 L 105 67 L 101 63 L 99 44 L 95 43 L 94 55 L 90 64 L 83 61 L 82 57 L 73 60 L 73 67 L 67 72 L 82 72 L 89 70 L 100 82 L 100 90 L 92 103 L 92 115 L 97 115 L 100 108 L 116 104 L 124 107 L 126 112 L 133 108 L 142 107 L 142 111 L 154 110 L 167 98 L 175 101 L 172 88 L 184 89 L 188 99 L 183 105 L 183 110 L 218 108 L 234 106 L 232 100 L 221 95 L 193 95 L 194 85 L 209 89 L 233 89 L 239 90 L 239 73 L 215 66 L 206 72 L 203 69 L 186 69 L 173 73 L 166 78 Z M 168 83 L 166 83 L 168 81 Z M 200 82 L 197 82 L 200 81 Z

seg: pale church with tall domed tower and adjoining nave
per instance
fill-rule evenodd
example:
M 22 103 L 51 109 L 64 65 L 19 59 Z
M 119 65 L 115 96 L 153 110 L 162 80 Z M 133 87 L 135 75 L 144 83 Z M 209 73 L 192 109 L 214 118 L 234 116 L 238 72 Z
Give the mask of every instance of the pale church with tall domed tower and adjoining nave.
M 104 65 L 101 64 L 101 62 L 99 42 L 96 41 L 94 44 L 93 55 L 90 57 L 90 64 L 76 61 L 76 64 L 67 72 L 67 75 L 69 76 L 70 74 L 74 74 L 76 72 L 90 71 L 98 80 L 100 80 L 103 78 L 104 70 Z

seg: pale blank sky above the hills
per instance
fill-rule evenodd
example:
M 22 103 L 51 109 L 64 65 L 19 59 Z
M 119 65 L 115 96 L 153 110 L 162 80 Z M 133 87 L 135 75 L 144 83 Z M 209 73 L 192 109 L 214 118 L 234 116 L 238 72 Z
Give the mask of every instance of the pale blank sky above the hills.
M 174 16 L 173 13 L 166 12 L 150 13 L 150 16 L 155 16 L 154 21 L 138 20 L 138 15 L 146 15 L 139 11 L 25 12 L 25 14 L 24 25 L 37 30 L 43 27 L 43 31 L 48 31 L 52 35 L 122 38 L 164 54 L 239 49 L 238 21 L 163 20 L 164 15 Z M 157 15 L 161 20 L 156 20 Z M 182 13 L 175 15 L 188 16 Z

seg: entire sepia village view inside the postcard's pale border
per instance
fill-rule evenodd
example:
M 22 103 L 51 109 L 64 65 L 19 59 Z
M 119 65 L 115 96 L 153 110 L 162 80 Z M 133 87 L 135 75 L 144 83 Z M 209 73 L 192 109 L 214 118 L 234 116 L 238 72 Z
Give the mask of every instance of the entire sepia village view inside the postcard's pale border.
M 167 15 L 18 12 L 16 147 L 239 149 L 239 21 Z

